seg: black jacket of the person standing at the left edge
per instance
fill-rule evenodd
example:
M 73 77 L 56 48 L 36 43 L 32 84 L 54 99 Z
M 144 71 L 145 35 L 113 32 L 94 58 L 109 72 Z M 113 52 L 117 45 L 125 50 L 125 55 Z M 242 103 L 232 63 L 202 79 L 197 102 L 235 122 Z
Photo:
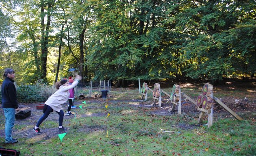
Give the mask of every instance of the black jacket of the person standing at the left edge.
M 2 83 L 2 108 L 19 108 L 14 80 L 6 77 Z

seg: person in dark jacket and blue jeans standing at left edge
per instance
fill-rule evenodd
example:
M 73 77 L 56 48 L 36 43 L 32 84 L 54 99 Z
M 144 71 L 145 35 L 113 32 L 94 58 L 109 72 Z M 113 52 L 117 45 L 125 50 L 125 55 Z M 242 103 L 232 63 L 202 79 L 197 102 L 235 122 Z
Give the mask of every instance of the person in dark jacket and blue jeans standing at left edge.
M 14 85 L 14 70 L 7 68 L 4 71 L 4 82 L 2 83 L 2 108 L 5 116 L 5 143 L 17 143 L 17 139 L 11 137 L 11 131 L 15 121 L 15 109 L 19 111 L 16 87 Z

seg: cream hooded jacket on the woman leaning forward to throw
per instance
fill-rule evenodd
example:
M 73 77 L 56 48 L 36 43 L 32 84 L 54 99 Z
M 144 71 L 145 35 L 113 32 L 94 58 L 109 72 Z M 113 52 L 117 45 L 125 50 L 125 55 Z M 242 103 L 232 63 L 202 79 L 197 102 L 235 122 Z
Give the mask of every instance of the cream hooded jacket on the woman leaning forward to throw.
M 74 80 L 72 85 L 69 86 L 63 86 L 61 85 L 59 90 L 56 91 L 54 94 L 48 98 L 48 100 L 45 102 L 46 105 L 50 106 L 54 111 L 60 112 L 62 109 L 62 105 L 67 102 L 69 98 L 69 89 L 72 89 L 76 87 L 78 84 L 78 80 Z

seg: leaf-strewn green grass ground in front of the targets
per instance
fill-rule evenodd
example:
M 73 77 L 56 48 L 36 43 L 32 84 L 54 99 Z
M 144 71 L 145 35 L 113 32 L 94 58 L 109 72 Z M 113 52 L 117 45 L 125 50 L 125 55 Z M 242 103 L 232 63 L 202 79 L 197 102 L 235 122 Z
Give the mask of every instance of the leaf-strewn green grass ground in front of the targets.
M 171 88 L 165 90 L 169 92 Z M 200 88 L 187 88 L 186 91 L 190 91 L 191 96 L 196 96 L 198 93 L 192 92 L 200 91 Z M 21 156 L 256 155 L 255 112 L 254 117 L 246 117 L 243 121 L 215 115 L 213 126 L 207 128 L 207 120 L 204 124 L 197 124 L 198 113 L 153 114 L 154 107 L 140 106 L 139 102 L 130 100 L 140 98 L 137 92 L 136 89 L 111 91 L 112 102 L 96 99 L 82 104 L 81 101 L 82 109 L 72 110 L 76 117 L 64 117 L 64 126 L 68 131 L 62 142 L 57 134 L 34 134 L 31 131 L 34 124 L 24 123 L 15 124 L 13 132 L 28 131 L 28 135 L 17 135 L 19 142 L 13 145 L 5 144 L 2 136 L 0 146 L 18 150 Z M 241 92 L 237 94 L 240 95 Z M 219 96 L 221 95 L 220 93 Z M 115 99 L 118 101 L 113 102 Z M 0 119 L 3 131 L 3 115 Z M 43 132 L 47 128 L 56 127 L 57 123 L 58 116 L 54 120 L 46 119 L 40 128 Z

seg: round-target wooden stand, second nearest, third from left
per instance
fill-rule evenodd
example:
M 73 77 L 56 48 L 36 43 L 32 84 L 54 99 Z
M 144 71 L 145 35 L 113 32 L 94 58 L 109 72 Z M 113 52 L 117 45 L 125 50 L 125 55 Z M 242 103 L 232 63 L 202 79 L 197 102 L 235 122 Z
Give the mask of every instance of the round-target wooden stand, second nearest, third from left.
M 169 98 L 169 100 L 171 100 L 172 107 L 168 111 L 174 111 L 175 107 L 178 106 L 178 114 L 181 114 L 181 95 L 180 95 L 180 93 L 181 93 L 180 85 L 174 85 L 172 87 L 171 97 Z

